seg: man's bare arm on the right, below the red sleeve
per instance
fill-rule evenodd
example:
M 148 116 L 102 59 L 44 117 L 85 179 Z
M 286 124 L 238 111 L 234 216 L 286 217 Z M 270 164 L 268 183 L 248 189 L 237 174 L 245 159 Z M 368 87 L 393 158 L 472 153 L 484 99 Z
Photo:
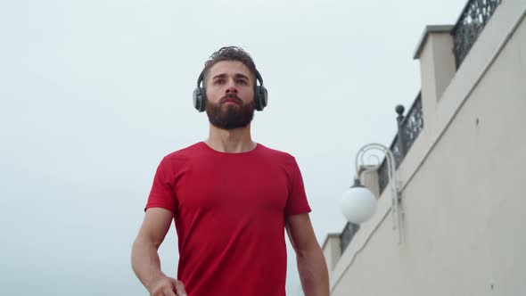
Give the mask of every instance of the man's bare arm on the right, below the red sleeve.
M 287 217 L 287 234 L 296 252 L 305 296 L 329 296 L 329 274 L 308 213 Z

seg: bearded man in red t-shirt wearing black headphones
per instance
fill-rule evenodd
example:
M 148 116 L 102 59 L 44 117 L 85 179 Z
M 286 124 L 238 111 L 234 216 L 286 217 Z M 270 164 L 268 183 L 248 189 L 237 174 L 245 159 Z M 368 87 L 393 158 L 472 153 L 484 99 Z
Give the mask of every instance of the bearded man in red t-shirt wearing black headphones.
M 251 138 L 254 110 L 267 104 L 262 83 L 239 47 L 205 63 L 193 99 L 207 112 L 210 135 L 161 160 L 132 248 L 132 267 L 151 295 L 284 295 L 285 228 L 305 295 L 329 295 L 296 160 Z M 157 253 L 172 219 L 177 279 L 160 271 Z

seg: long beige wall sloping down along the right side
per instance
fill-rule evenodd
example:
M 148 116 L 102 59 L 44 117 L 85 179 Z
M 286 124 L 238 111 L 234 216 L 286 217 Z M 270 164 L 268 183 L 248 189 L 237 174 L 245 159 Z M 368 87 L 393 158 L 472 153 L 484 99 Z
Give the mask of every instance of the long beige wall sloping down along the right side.
M 503 1 L 424 114 L 436 125 L 399 169 L 404 242 L 384 193 L 331 271 L 332 295 L 526 295 L 525 11 Z

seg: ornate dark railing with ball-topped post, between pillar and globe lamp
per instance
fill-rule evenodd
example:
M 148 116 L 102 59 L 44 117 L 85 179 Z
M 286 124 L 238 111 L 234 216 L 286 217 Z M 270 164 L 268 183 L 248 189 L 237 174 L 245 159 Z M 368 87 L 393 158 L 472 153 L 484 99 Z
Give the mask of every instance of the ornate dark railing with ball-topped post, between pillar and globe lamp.
M 407 155 L 407 152 L 415 143 L 416 138 L 420 135 L 420 131 L 423 129 L 423 113 L 422 113 L 422 93 L 418 93 L 415 102 L 407 111 L 406 117 L 404 113 L 404 107 L 397 106 L 397 113 L 399 113 L 399 133 L 393 139 L 390 144 L 390 151 L 393 153 L 395 158 L 395 166 L 398 169 L 400 163 Z M 380 187 L 380 194 L 383 193 L 383 189 L 389 184 L 389 176 L 387 172 L 387 161 L 384 159 L 382 165 L 378 169 L 378 185 Z

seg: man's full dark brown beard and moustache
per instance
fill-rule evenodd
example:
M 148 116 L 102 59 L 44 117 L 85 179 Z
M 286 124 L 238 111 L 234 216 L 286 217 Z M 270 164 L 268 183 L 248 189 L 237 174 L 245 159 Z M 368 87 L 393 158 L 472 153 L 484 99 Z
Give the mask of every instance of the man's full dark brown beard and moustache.
M 227 99 L 233 99 L 240 104 L 223 106 Z M 234 129 L 246 127 L 254 118 L 254 102 L 242 103 L 237 95 L 226 95 L 219 103 L 206 102 L 206 113 L 210 124 L 221 129 Z

